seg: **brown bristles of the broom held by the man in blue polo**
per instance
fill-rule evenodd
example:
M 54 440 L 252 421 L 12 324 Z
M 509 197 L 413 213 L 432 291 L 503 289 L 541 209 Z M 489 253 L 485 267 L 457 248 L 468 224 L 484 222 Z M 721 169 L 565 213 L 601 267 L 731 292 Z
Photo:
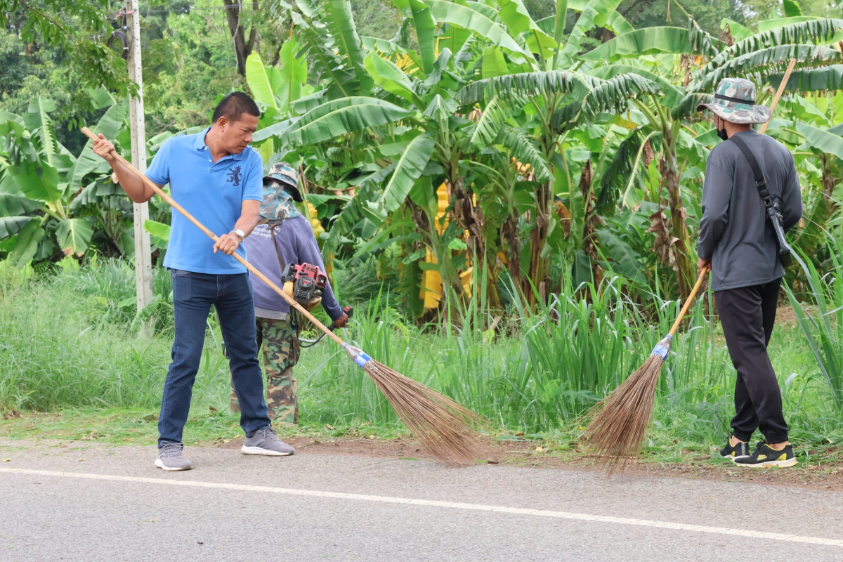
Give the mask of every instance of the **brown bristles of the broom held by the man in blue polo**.
M 471 438 L 471 427 L 481 425 L 483 419 L 480 415 L 374 361 L 356 347 L 346 345 L 345 350 L 384 394 L 427 454 L 450 466 L 466 466 L 474 462 L 476 444 Z

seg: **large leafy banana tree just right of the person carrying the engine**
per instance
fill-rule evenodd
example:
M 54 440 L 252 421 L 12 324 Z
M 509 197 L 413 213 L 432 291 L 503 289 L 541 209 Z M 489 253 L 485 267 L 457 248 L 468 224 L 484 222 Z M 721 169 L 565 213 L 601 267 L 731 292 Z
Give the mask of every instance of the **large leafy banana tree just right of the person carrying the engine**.
M 488 254 L 484 220 L 465 182 L 464 158 L 474 151 L 466 133 L 472 122 L 460 116 L 454 94 L 472 77 L 484 46 L 500 46 L 519 60 L 529 51 L 482 8 L 416 0 L 397 5 L 416 29 L 419 51 L 400 45 L 400 37 L 359 38 L 347 2 L 315 8 L 295 4 L 293 19 L 298 19 L 303 44 L 316 60 L 325 61 L 319 68 L 326 79 L 312 98 L 321 103 L 291 115 L 273 132 L 284 150 L 309 153 L 303 161 L 318 167 L 317 181 L 358 182 L 357 196 L 337 219 L 330 244 L 349 233 L 371 238 L 380 227 L 389 229 L 397 218 L 393 215 L 404 216 L 403 206 L 409 206 L 417 234 L 435 262 L 426 267 L 438 269 L 446 286 L 461 294 L 466 254 L 490 264 L 494 256 Z M 443 221 L 437 224 L 436 187 L 442 183 L 451 200 L 448 228 Z M 456 255 L 460 244 L 461 257 Z M 497 292 L 494 284 L 489 286 Z M 497 297 L 492 295 L 491 302 L 497 303 Z

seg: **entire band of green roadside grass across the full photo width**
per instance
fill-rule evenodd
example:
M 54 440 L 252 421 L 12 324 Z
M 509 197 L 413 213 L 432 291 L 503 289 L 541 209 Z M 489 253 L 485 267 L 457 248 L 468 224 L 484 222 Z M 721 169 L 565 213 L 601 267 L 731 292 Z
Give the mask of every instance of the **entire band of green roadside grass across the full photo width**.
M 391 306 L 389 295 L 375 293 L 355 303 L 343 337 L 485 415 L 496 435 L 523 432 L 556 452 L 574 452 L 582 431 L 577 416 L 641 364 L 679 304 L 654 297 L 642 308 L 610 281 L 601 289 L 587 288 L 586 298 L 569 287 L 531 314 L 516 302 L 507 335 L 489 329 L 482 302 L 454 306 L 450 323 L 419 327 Z M 80 268 L 67 260 L 50 274 L 0 262 L 0 410 L 25 413 L 0 421 L 0 434 L 82 439 L 97 431 L 98 440 L 154 442 L 172 343 L 169 279 L 156 273 L 156 304 L 142 317 L 133 313 L 133 290 L 132 270 L 122 262 Z M 710 306 L 710 296 L 697 302 L 674 340 L 645 443 L 652 458 L 707 454 L 728 435 L 734 372 L 717 323 L 706 314 Z M 238 418 L 228 413 L 220 341 L 210 318 L 186 442 L 239 435 Z M 295 371 L 302 426 L 289 431 L 403 432 L 373 383 L 338 351 L 330 341 L 303 351 Z M 792 441 L 800 451 L 828 456 L 843 431 L 808 342 L 798 329 L 778 326 L 770 351 Z

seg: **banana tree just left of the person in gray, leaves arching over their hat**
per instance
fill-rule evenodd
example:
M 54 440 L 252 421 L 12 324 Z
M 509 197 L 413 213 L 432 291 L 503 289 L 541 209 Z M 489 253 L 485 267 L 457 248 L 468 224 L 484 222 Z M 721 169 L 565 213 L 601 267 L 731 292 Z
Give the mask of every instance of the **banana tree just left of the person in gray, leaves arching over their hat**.
M 668 192 L 670 209 L 669 236 L 659 238 L 668 248 L 663 251 L 673 260 L 679 281 L 679 291 L 685 296 L 694 277 L 694 259 L 688 227 L 688 198 L 695 199 L 698 189 L 683 178 L 685 167 L 694 169 L 705 151 L 696 136 L 702 131 L 691 126 L 697 120 L 695 106 L 711 99 L 711 92 L 722 78 L 740 76 L 753 78 L 759 86 L 759 103 L 763 103 L 768 77 L 781 72 L 790 58 L 797 58 L 797 67 L 815 67 L 840 59 L 840 52 L 823 44 L 840 33 L 840 20 L 811 20 L 787 24 L 748 35 L 733 45 L 714 40 L 699 29 L 693 19 L 688 29 L 647 28 L 627 31 L 598 48 L 580 56 L 590 66 L 590 75 L 609 78 L 635 72 L 658 83 L 662 96 L 647 96 L 633 101 L 642 115 L 638 124 L 648 140 L 657 142 L 660 153 L 660 175 Z M 811 43 L 811 44 L 808 44 Z M 689 79 L 690 78 L 690 79 Z M 709 136 L 711 144 L 714 139 Z M 635 156 L 634 174 L 644 172 L 639 147 Z M 685 180 L 686 189 L 682 187 Z M 657 224 L 658 222 L 658 224 Z M 653 228 L 665 222 L 657 215 Z M 663 248 L 662 248 L 663 249 Z M 663 249 L 664 250 L 664 249 Z

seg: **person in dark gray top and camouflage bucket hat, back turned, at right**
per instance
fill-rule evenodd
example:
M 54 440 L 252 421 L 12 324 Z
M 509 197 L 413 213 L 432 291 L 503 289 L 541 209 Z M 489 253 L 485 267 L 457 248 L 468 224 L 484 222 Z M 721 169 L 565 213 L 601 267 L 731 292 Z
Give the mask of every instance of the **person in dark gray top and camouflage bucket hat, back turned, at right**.
M 797 458 L 767 345 L 785 274 L 772 221 L 781 220 L 787 232 L 802 217 L 799 174 L 785 145 L 752 128 L 770 120 L 771 111 L 755 104 L 749 80 L 722 80 L 711 103 L 697 106 L 703 109 L 714 114 L 723 142 L 706 160 L 697 267 L 711 272 L 709 287 L 736 373 L 732 435 L 720 454 L 744 467 L 792 467 Z M 753 452 L 756 431 L 764 441 Z

